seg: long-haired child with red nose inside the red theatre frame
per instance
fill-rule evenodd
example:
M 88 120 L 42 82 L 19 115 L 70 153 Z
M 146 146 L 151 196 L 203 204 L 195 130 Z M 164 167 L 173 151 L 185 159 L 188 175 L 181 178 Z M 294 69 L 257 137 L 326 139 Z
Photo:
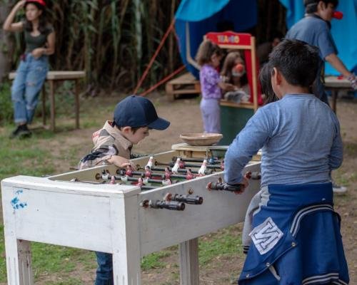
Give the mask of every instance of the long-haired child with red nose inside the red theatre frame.
M 246 76 L 246 66 L 238 51 L 231 51 L 226 56 L 221 78 L 223 82 L 231 83 L 234 86 L 233 90 L 228 90 L 228 92 L 224 93 L 224 99 L 235 103 L 249 103 L 251 92 Z

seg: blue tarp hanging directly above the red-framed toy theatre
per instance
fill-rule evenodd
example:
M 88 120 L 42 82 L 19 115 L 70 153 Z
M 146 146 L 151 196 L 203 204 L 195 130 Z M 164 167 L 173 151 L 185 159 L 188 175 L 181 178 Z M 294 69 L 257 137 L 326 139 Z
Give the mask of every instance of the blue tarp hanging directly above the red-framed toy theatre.
M 183 0 L 176 12 L 176 34 L 182 62 L 196 78 L 198 70 L 186 59 L 186 23 L 189 28 L 191 57 L 195 58 L 198 46 L 208 31 L 218 31 L 226 22 L 233 31 L 246 31 L 256 25 L 256 0 Z

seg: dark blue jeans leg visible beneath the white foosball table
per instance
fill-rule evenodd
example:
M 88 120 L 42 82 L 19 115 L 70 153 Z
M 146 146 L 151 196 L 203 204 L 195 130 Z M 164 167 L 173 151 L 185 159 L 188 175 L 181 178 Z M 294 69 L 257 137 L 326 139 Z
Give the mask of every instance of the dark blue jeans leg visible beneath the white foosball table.
M 96 282 L 94 285 L 114 285 L 113 257 L 105 252 L 96 252 Z

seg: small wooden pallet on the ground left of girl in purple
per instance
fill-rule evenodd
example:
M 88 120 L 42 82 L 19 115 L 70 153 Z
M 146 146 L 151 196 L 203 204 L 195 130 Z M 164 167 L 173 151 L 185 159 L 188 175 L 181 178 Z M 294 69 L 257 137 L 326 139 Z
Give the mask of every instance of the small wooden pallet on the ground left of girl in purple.
M 191 73 L 184 73 L 166 83 L 166 94 L 173 100 L 176 99 L 176 95 L 199 93 L 201 93 L 200 83 Z

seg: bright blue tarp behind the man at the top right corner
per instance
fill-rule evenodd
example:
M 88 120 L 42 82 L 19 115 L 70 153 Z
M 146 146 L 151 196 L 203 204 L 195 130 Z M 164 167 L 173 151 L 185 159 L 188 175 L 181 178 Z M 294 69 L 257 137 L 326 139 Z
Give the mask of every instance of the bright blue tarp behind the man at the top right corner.
M 288 28 L 303 18 L 305 9 L 302 0 L 280 0 L 280 2 L 287 9 Z M 351 70 L 357 64 L 357 0 L 341 0 L 337 10 L 343 12 L 343 19 L 331 21 L 331 33 L 338 49 L 338 57 Z M 338 75 L 338 71 L 328 63 L 325 73 Z

